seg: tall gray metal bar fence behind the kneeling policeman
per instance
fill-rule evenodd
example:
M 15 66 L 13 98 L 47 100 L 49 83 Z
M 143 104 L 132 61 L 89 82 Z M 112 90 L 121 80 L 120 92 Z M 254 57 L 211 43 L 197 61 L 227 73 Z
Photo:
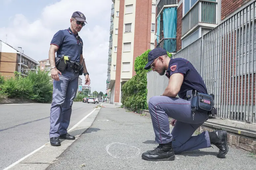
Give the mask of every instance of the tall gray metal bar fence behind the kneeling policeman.
M 226 19 L 173 58 L 189 60 L 215 95 L 217 117 L 256 123 L 255 1 Z M 166 76 L 148 73 L 148 100 L 161 95 Z M 156 88 L 157 87 L 157 88 Z

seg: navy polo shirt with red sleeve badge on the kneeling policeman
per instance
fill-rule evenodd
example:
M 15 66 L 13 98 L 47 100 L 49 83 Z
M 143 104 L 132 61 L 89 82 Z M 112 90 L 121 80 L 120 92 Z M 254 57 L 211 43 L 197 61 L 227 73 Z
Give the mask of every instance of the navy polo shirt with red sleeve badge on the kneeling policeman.
M 208 94 L 203 78 L 188 60 L 184 58 L 171 59 L 165 75 L 170 78 L 174 73 L 184 75 L 183 83 L 178 93 L 180 98 L 184 99 L 188 90 L 196 90 L 197 92 Z

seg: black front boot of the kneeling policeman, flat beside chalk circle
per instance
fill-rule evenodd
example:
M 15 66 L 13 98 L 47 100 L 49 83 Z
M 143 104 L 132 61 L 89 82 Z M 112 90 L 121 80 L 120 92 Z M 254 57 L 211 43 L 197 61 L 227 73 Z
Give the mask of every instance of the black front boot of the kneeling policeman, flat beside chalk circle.
M 159 144 L 155 150 L 143 153 L 142 159 L 151 161 L 174 160 L 175 154 L 172 148 L 172 142 Z

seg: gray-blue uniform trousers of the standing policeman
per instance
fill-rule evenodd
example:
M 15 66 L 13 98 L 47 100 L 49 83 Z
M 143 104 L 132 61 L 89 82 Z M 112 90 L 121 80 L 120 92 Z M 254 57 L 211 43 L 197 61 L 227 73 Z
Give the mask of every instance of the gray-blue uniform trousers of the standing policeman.
M 79 73 L 63 71 L 59 81 L 53 81 L 53 100 L 50 115 L 51 137 L 67 133 L 70 122 L 73 100 L 78 88 Z

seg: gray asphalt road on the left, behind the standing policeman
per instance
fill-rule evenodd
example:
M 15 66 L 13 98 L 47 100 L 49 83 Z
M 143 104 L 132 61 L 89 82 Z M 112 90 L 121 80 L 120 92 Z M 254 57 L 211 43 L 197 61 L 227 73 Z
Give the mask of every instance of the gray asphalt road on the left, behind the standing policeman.
M 96 105 L 74 102 L 69 128 Z M 40 103 L 0 105 L 0 169 L 49 142 L 50 107 Z

